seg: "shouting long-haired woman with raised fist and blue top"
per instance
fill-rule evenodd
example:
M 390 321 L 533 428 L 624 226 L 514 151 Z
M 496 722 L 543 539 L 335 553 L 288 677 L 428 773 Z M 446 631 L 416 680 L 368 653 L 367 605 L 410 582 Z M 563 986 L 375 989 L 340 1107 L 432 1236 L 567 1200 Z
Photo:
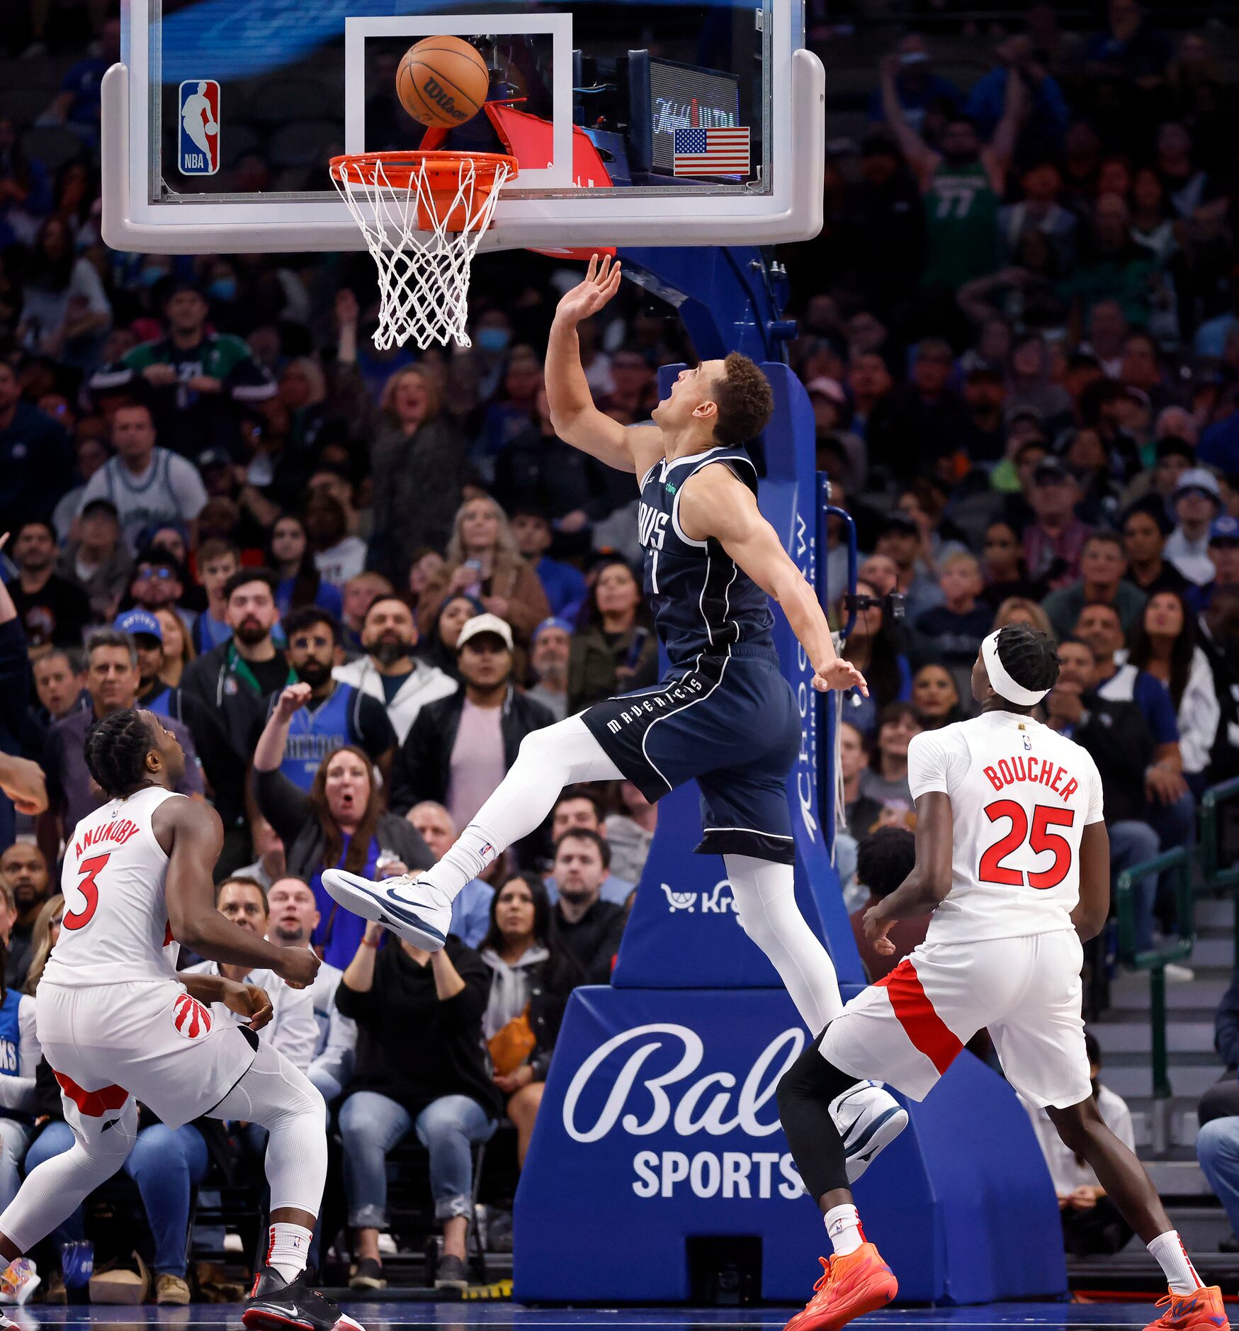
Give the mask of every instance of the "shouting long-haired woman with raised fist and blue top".
M 309 791 L 283 775 L 289 727 L 309 697 L 305 683 L 279 693 L 254 745 L 253 789 L 258 812 L 285 844 L 287 876 L 302 878 L 314 893 L 319 913 L 314 946 L 323 961 L 343 969 L 361 944 L 366 921 L 335 905 L 322 885 L 322 870 L 341 866 L 375 876 L 405 873 L 429 869 L 434 856 L 413 824 L 387 812 L 374 765 L 355 745 L 325 757 Z

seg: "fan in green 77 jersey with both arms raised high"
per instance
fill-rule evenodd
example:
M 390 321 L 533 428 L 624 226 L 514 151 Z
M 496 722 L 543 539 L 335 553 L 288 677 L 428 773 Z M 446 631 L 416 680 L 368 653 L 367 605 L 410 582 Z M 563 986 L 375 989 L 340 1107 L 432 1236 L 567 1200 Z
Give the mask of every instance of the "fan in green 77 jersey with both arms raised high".
M 998 205 L 1029 100 L 1023 76 L 1009 72 L 1002 118 L 985 146 L 973 120 L 954 114 L 942 129 L 942 150 L 934 152 L 900 104 L 896 79 L 901 69 L 900 56 L 882 59 L 882 110 L 925 198 L 929 258 L 921 284 L 957 291 L 998 268 Z

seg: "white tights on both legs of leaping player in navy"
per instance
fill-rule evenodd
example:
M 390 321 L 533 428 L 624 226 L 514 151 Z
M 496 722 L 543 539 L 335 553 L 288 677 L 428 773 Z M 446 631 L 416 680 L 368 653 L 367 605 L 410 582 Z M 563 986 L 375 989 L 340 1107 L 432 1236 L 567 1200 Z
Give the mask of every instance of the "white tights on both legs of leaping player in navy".
M 496 856 L 542 823 L 566 785 L 616 781 L 621 776 L 579 716 L 534 731 L 474 821 L 422 877 L 454 898 Z M 796 905 L 792 865 L 748 855 L 723 858 L 745 933 L 769 957 L 801 1021 L 817 1034 L 844 1005 L 834 965 Z

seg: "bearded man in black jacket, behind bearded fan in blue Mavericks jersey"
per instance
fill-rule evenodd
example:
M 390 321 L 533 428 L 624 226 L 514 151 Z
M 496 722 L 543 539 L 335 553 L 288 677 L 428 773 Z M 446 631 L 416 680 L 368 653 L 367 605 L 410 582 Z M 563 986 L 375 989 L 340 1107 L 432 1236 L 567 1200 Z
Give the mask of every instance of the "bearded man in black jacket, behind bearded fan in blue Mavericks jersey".
M 254 727 L 262 725 L 267 697 L 294 684 L 297 675 L 271 642 L 279 622 L 278 579 L 270 568 L 240 568 L 224 584 L 232 638 L 190 662 L 181 675 L 181 697 L 202 767 L 224 820 L 224 852 L 216 872 L 233 872 L 249 858 L 245 831 L 245 772 Z

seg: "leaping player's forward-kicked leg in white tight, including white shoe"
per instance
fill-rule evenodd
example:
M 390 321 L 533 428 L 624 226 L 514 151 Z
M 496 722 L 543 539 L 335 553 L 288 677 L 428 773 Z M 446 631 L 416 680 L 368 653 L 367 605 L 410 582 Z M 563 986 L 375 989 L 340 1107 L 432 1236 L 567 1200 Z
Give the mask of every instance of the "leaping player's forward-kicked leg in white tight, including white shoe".
M 447 936 L 456 893 L 514 841 L 532 832 L 566 785 L 616 781 L 621 776 L 580 716 L 570 716 L 526 735 L 507 776 L 434 868 L 415 880 L 393 878 L 386 884 L 327 869 L 323 886 L 355 914 L 381 920 L 406 941 L 437 952 Z

